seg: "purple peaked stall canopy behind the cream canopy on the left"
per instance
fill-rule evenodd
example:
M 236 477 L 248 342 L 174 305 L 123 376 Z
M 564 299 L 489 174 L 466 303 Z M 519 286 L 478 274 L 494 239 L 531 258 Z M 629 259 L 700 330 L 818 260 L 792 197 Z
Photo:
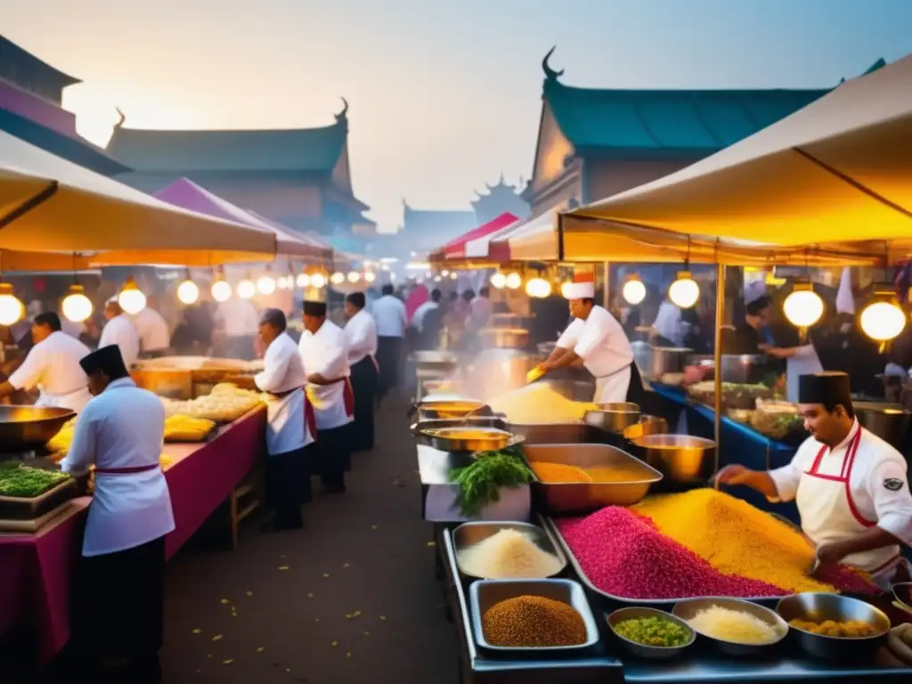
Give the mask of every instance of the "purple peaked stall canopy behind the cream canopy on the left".
M 161 190 L 153 192 L 153 197 L 162 202 L 189 209 L 192 212 L 205 213 L 223 221 L 242 223 L 257 231 L 273 235 L 276 240 L 276 253 L 286 256 L 300 256 L 320 258 L 321 251 L 316 245 L 307 242 L 300 235 L 295 235 L 290 229 L 279 230 L 271 223 L 266 223 L 256 218 L 250 212 L 245 212 L 238 206 L 209 192 L 202 185 L 191 181 L 189 178 L 179 178 Z

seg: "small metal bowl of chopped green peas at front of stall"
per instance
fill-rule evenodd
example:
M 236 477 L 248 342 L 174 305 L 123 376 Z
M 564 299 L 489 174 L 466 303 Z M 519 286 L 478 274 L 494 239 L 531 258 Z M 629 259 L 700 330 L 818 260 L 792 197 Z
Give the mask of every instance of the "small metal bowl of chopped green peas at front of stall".
M 686 622 L 656 608 L 621 608 L 607 622 L 621 646 L 640 658 L 673 658 L 697 638 Z

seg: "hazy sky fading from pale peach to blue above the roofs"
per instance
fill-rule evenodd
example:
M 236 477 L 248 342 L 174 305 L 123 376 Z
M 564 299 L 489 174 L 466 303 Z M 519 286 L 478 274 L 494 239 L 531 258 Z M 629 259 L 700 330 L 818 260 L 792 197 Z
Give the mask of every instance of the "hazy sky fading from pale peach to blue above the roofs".
M 82 78 L 79 130 L 331 123 L 381 230 L 528 178 L 541 58 L 603 88 L 834 85 L 912 51 L 912 0 L 41 0 L 5 36 Z M 40 10 L 39 10 L 40 5 Z

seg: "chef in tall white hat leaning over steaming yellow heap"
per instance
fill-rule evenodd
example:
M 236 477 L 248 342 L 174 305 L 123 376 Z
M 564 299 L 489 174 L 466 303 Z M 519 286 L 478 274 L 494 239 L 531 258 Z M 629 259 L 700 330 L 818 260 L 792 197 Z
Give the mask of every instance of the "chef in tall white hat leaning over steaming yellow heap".
M 596 378 L 593 401 L 600 404 L 633 401 L 642 405 L 643 383 L 633 362 L 630 341 L 617 319 L 602 306 L 596 306 L 595 283 L 577 280 L 564 286 L 564 295 L 570 300 L 571 315 L 584 321 L 584 325 L 572 349 L 545 361 L 539 368 L 547 373 L 582 359 L 583 366 Z

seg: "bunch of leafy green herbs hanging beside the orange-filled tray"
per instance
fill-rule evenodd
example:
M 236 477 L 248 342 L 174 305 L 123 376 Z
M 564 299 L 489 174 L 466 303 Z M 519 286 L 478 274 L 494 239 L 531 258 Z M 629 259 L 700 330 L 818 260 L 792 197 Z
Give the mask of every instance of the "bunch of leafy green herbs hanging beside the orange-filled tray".
M 450 472 L 450 482 L 459 485 L 461 514 L 467 518 L 477 515 L 483 506 L 500 501 L 501 487 L 520 487 L 532 479 L 519 446 L 482 451 L 475 455 L 472 465 Z

